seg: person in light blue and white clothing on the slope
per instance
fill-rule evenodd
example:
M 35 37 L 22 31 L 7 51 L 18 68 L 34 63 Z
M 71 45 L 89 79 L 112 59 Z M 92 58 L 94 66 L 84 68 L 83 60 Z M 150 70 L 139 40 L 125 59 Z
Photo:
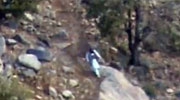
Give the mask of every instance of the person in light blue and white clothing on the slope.
M 100 54 L 95 50 L 90 48 L 86 53 L 86 61 L 90 64 L 91 70 L 94 71 L 97 77 L 100 78 L 100 65 L 99 61 L 103 60 Z

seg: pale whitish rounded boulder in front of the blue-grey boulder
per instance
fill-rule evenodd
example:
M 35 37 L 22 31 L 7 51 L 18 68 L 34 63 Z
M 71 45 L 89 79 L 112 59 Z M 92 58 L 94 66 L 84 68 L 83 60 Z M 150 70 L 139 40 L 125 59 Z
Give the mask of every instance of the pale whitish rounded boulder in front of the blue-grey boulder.
M 38 61 L 37 57 L 33 54 L 21 54 L 18 57 L 18 61 L 20 64 L 34 69 L 36 71 L 40 70 L 41 68 L 41 63 Z

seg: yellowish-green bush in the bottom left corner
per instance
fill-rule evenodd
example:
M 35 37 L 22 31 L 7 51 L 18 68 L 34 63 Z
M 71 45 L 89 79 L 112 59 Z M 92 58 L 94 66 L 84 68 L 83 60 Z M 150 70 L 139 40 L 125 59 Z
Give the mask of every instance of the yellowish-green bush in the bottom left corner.
M 28 87 L 19 84 L 17 79 L 7 80 L 0 77 L 0 98 L 2 100 L 11 100 L 17 97 L 18 100 L 32 98 L 33 94 Z

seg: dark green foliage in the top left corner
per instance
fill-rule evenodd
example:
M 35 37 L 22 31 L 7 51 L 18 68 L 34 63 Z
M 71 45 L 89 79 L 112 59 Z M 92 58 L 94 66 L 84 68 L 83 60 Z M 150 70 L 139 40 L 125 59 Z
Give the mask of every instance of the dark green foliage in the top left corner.
M 36 5 L 40 0 L 0 0 L 0 16 L 12 14 L 15 17 L 23 14 L 24 11 L 36 11 Z

